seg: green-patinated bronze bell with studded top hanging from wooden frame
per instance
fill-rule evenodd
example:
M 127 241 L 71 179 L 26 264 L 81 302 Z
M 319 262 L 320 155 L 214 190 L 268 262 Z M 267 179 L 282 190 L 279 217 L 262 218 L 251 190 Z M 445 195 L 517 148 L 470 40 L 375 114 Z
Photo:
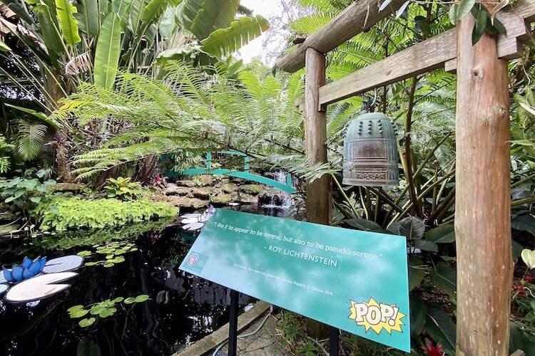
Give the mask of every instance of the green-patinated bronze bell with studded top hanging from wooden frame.
M 384 187 L 398 184 L 396 132 L 387 115 L 353 117 L 344 140 L 342 184 Z

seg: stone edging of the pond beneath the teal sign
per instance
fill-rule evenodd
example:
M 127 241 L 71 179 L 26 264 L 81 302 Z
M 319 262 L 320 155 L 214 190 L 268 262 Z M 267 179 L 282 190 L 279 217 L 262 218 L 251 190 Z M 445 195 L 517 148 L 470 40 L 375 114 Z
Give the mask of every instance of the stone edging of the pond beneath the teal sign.
M 270 309 L 270 304 L 260 300 L 256 305 L 238 317 L 238 333 L 248 328 L 256 320 L 260 319 L 264 313 Z M 218 330 L 215 330 L 210 335 L 195 341 L 192 345 L 185 347 L 185 349 L 175 352 L 171 356 L 201 356 L 207 355 L 208 352 L 218 347 L 222 342 L 228 339 L 228 323 L 223 325 Z

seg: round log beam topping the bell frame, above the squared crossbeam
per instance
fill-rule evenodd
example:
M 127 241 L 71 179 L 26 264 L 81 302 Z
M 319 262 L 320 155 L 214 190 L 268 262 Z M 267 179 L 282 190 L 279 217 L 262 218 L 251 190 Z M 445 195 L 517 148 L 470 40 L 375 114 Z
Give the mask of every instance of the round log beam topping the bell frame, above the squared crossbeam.
M 386 9 L 379 12 L 379 1 L 358 0 L 338 14 L 335 19 L 323 26 L 320 31 L 308 36 L 305 42 L 275 63 L 275 66 L 294 73 L 305 67 L 305 51 L 314 48 L 320 53 L 327 53 L 345 41 L 366 31 L 375 23 L 387 18 L 397 11 L 405 0 L 392 0 Z

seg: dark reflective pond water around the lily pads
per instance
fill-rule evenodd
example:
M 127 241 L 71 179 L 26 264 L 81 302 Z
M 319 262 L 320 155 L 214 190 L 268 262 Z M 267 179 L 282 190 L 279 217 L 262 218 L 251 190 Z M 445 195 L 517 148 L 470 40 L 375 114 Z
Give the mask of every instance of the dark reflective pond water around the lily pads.
M 245 209 L 287 214 L 282 209 Z M 54 243 L 56 237 L 47 244 L 40 244 L 41 238 L 0 240 L 0 265 L 6 266 L 20 263 L 24 256 L 54 258 L 91 250 L 91 246 L 70 247 L 80 238 L 93 245 L 112 236 L 124 240 L 131 235 L 138 248 L 113 267 L 79 268 L 79 276 L 67 282 L 71 288 L 51 298 L 24 304 L 0 300 L 0 355 L 170 355 L 228 323 L 230 290 L 177 268 L 194 236 L 177 226 L 145 234 L 136 234 L 136 226 L 131 228 L 117 233 L 95 231 L 91 236 L 71 234 L 59 243 Z M 120 305 L 113 316 L 98 318 L 88 328 L 81 328 L 79 319 L 67 313 L 73 305 L 141 294 L 150 299 Z M 242 310 L 253 303 L 245 295 L 240 298 Z

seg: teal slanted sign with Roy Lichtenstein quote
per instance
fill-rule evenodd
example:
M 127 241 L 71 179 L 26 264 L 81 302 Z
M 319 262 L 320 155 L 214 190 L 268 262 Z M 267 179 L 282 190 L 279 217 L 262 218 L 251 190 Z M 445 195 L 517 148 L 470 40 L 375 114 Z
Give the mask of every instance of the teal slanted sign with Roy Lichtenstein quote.
M 217 209 L 180 269 L 410 352 L 404 236 Z

